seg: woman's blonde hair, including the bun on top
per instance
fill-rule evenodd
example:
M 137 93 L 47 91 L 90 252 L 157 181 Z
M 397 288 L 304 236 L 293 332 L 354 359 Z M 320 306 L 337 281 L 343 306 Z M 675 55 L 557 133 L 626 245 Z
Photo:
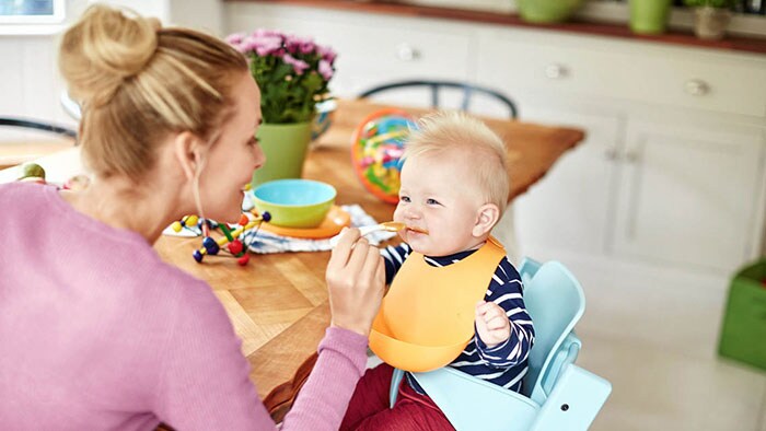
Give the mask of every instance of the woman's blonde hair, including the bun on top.
M 212 36 L 95 4 L 65 33 L 59 68 L 82 108 L 84 163 L 95 175 L 138 182 L 170 133 L 213 138 L 247 62 Z

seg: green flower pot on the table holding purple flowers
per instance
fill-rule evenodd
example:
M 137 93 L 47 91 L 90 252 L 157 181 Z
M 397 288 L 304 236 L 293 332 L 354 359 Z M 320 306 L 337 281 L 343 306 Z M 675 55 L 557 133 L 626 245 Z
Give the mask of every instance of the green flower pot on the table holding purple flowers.
M 253 173 L 253 188 L 271 179 L 301 177 L 311 129 L 312 121 L 260 125 L 257 137 L 266 163 Z

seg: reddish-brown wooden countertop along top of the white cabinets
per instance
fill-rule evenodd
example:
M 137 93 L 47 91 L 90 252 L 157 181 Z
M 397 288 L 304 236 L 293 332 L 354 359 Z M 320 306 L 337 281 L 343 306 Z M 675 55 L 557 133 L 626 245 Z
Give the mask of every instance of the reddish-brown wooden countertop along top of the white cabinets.
M 258 2 L 311 8 L 324 8 L 369 13 L 387 13 L 403 16 L 436 18 L 445 20 L 467 21 L 475 23 L 499 24 L 517 27 L 547 30 L 553 32 L 576 33 L 583 35 L 606 36 L 637 42 L 658 44 L 684 45 L 698 48 L 746 51 L 766 54 L 766 38 L 742 37 L 729 35 L 722 40 L 703 40 L 690 31 L 670 30 L 660 35 L 637 35 L 626 24 L 593 23 L 569 21 L 560 24 L 532 24 L 518 14 L 497 12 L 469 11 L 464 9 L 434 8 L 414 4 L 403 4 L 395 1 L 353 1 L 353 0 L 224 0 L 225 2 Z

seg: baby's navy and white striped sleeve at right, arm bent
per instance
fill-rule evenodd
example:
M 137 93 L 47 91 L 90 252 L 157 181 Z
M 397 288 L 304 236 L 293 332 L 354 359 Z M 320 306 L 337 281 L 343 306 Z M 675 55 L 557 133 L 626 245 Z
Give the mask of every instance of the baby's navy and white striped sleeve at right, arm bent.
M 498 265 L 489 283 L 485 301 L 494 302 L 506 311 L 511 325 L 511 336 L 504 341 L 491 348 L 476 335 L 474 337 L 479 357 L 487 361 L 489 366 L 508 369 L 526 361 L 535 331 L 532 318 L 526 312 L 523 299 L 523 286 L 519 272 L 504 257 Z

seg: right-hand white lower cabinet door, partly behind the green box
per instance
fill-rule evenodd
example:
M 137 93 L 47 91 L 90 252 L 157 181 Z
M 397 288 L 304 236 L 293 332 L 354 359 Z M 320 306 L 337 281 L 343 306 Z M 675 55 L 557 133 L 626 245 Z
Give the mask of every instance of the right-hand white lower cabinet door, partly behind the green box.
M 759 241 L 764 131 L 684 127 L 629 124 L 614 252 L 731 270 Z

